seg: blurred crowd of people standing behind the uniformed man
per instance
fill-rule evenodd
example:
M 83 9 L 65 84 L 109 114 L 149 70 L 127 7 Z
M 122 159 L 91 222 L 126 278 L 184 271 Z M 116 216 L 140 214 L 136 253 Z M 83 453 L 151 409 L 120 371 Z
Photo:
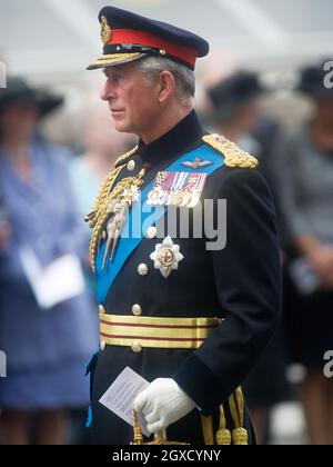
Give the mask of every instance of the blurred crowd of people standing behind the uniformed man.
M 279 89 L 241 69 L 210 83 L 198 109 L 208 131 L 260 159 L 275 198 L 284 306 L 245 382 L 261 444 L 272 443 L 273 409 L 283 403 L 302 407 L 301 443 L 333 444 L 333 380 L 324 375 L 324 355 L 333 350 L 333 87 L 325 86 L 326 73 L 323 62 L 297 70 L 293 93 L 311 108 L 300 125 L 278 120 L 262 101 Z M 117 132 L 108 109 L 95 105 L 84 111 L 80 139 L 54 146 L 41 123 L 51 112 L 61 118 L 62 103 L 22 78 L 9 78 L 0 90 L 0 350 L 7 354 L 0 444 L 89 443 L 84 365 L 98 349 L 99 330 L 83 218 L 135 138 Z

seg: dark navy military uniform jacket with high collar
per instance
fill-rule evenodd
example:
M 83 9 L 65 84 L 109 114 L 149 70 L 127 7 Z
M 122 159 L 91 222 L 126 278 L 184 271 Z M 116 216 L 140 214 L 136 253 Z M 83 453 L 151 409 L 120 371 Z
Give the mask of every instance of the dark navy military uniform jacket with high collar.
M 134 172 L 124 166 L 120 178 L 132 177 L 149 163 L 144 178 L 149 183 L 159 170 L 202 145 L 203 135 L 193 111 L 159 140 L 148 146 L 140 142 L 131 158 Z M 255 169 L 223 166 L 209 177 L 202 199 L 226 200 L 226 247 L 206 251 L 205 238 L 173 238 L 184 259 L 164 279 L 150 259 L 161 239 L 144 238 L 118 275 L 104 307 L 108 314 L 131 316 L 138 304 L 142 316 L 218 317 L 224 321 L 196 350 L 143 348 L 135 354 L 130 347 L 107 346 L 93 377 L 93 444 L 123 445 L 132 439 L 132 428 L 99 404 L 125 367 L 149 381 L 174 378 L 204 415 L 213 414 L 218 429 L 220 404 L 242 384 L 274 332 L 281 271 L 275 211 L 265 180 Z M 148 275 L 138 274 L 140 264 L 148 265 Z M 226 417 L 230 424 L 230 414 Z M 168 438 L 203 444 L 200 411 L 195 409 L 170 426 Z

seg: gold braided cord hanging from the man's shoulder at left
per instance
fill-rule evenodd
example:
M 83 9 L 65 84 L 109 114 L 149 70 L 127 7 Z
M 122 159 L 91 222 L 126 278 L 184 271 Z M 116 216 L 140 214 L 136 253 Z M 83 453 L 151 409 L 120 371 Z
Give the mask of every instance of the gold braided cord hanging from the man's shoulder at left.
M 141 172 L 137 177 L 124 178 L 113 189 L 114 182 L 118 176 L 120 175 L 121 170 L 123 169 L 125 161 L 129 158 L 131 158 L 137 151 L 138 147 L 132 149 L 130 152 L 127 152 L 124 156 L 121 156 L 117 160 L 114 165 L 115 169 L 109 173 L 109 176 L 102 183 L 93 208 L 85 218 L 85 221 L 89 222 L 89 227 L 93 229 L 89 247 L 90 265 L 93 272 L 95 271 L 94 261 L 98 252 L 98 244 L 100 238 L 102 237 L 104 226 L 109 217 L 108 205 L 111 201 L 120 198 L 123 191 L 128 188 L 132 186 L 140 187 L 143 183 L 142 178 L 144 176 L 144 170 L 141 170 Z

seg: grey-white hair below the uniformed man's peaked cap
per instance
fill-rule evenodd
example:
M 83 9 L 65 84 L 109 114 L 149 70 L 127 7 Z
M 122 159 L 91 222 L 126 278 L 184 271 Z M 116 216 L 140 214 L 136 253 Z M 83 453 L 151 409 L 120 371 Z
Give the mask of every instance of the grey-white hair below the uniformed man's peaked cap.
M 184 106 L 192 106 L 195 95 L 194 72 L 184 64 L 176 63 L 164 57 L 149 56 L 138 61 L 139 71 L 144 74 L 147 82 L 152 86 L 162 71 L 169 71 L 175 80 L 175 91 Z

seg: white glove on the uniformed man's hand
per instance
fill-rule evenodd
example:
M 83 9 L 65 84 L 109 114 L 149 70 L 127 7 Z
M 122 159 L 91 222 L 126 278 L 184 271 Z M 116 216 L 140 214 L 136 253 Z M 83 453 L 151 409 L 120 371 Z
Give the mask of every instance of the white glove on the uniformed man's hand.
M 171 378 L 151 382 L 134 400 L 138 415 L 143 415 L 150 433 L 158 433 L 183 418 L 195 403 Z

